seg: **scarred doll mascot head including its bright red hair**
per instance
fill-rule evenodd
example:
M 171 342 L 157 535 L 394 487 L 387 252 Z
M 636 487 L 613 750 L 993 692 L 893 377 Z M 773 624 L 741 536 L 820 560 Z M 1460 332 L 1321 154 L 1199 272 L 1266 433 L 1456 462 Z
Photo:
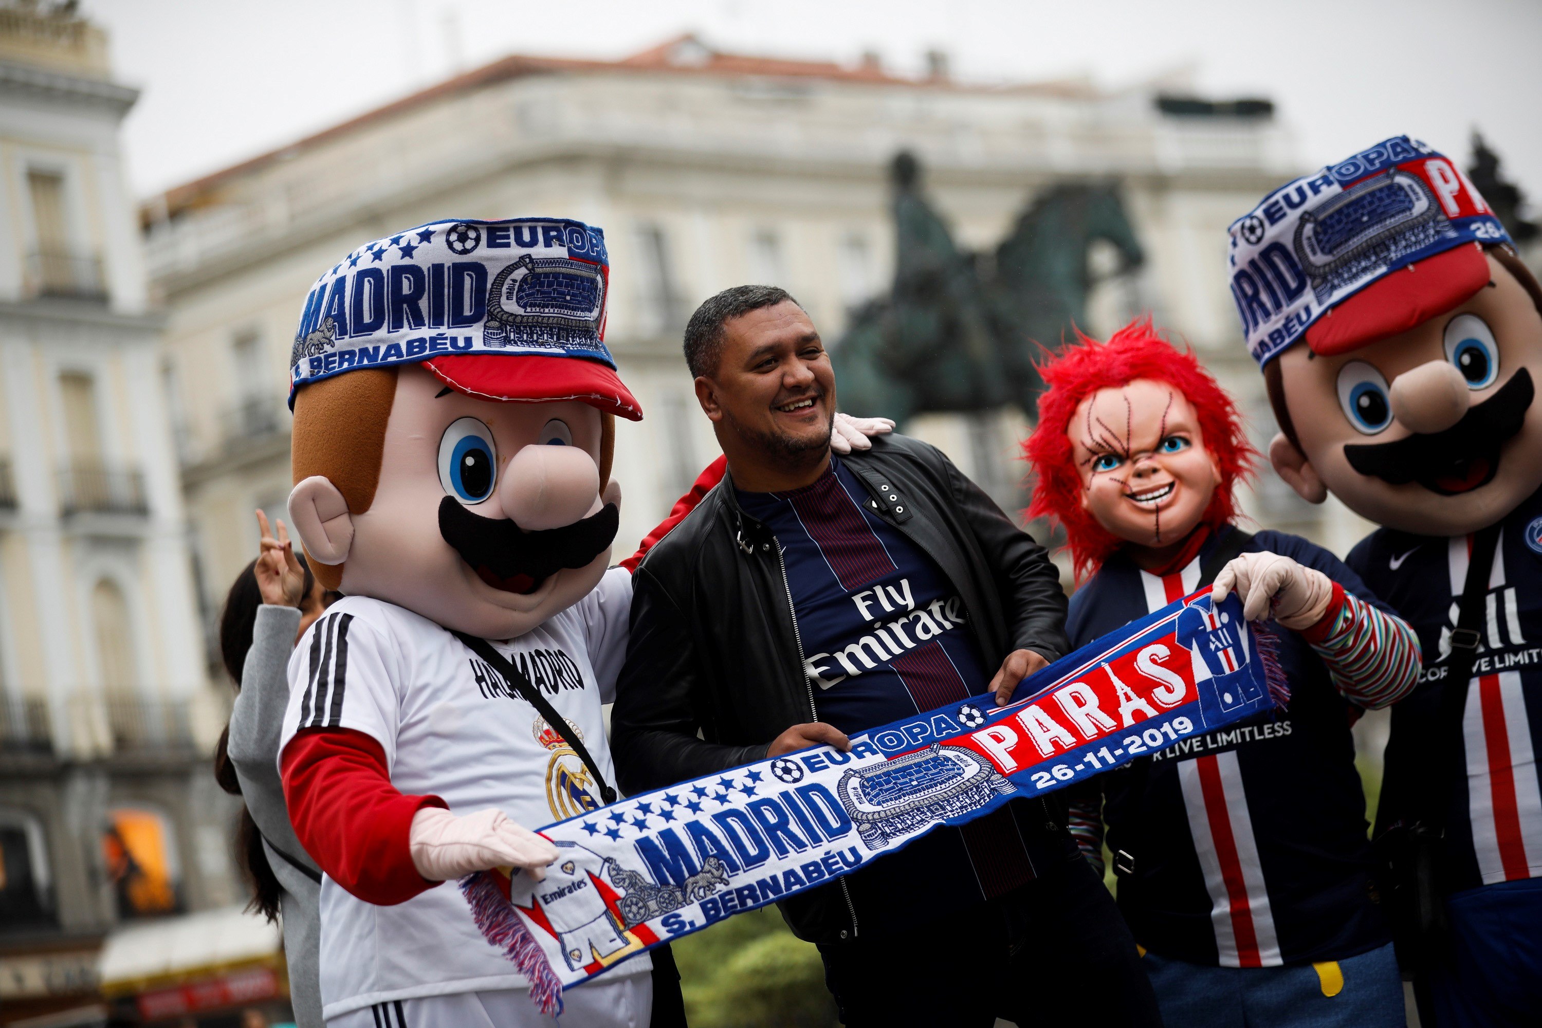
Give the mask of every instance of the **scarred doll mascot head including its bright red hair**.
M 1237 515 L 1257 453 L 1194 353 L 1136 321 L 1107 342 L 1078 333 L 1039 373 L 1029 516 L 1064 526 L 1078 578 L 1121 546 L 1160 553 Z

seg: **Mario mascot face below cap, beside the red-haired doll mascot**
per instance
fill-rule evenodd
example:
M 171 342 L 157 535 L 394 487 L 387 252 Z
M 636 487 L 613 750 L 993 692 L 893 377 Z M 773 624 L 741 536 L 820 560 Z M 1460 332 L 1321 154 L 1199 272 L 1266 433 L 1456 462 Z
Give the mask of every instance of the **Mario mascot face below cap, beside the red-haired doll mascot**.
M 1280 359 L 1301 452 L 1271 447 L 1308 499 L 1312 475 L 1351 510 L 1419 535 L 1493 524 L 1542 485 L 1542 316 L 1493 257 L 1490 284 L 1437 317 L 1335 356 Z M 1301 481 L 1292 462 L 1305 456 Z M 1284 465 L 1281 465 L 1281 462 Z

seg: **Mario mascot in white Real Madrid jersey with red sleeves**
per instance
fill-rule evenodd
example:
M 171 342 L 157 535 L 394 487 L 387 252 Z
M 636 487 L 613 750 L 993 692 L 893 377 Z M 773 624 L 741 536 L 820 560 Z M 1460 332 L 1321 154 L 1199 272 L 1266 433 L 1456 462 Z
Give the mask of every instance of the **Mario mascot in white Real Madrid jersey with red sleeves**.
M 614 795 L 600 704 L 632 587 L 606 570 L 611 455 L 614 418 L 641 410 L 601 342 L 608 285 L 595 228 L 436 222 L 353 251 L 307 301 L 290 513 L 347 595 L 295 649 L 281 768 L 327 872 L 328 1025 L 552 1023 L 443 883 L 544 879 L 558 851 L 530 829 Z M 601 909 L 574 945 L 617 963 L 640 949 L 618 925 Z M 648 1025 L 649 969 L 574 989 L 574 1023 Z

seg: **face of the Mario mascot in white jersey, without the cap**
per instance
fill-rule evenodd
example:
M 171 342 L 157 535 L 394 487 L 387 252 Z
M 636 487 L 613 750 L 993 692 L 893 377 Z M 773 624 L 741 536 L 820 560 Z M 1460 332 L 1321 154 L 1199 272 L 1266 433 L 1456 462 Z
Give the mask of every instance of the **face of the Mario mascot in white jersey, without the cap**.
M 401 368 L 342 592 L 483 638 L 529 632 L 604 573 L 614 526 L 584 521 L 603 506 L 598 461 L 600 412 L 588 404 L 483 401 Z M 521 546 L 530 532 L 543 532 L 537 546 Z

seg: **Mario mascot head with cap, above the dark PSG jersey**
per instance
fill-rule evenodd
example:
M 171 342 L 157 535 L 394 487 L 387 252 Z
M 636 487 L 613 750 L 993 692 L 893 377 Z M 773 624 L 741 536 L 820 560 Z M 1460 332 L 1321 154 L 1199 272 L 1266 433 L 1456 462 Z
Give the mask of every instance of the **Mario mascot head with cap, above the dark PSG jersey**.
M 1305 499 L 1462 535 L 1542 485 L 1542 287 L 1454 162 L 1399 136 L 1275 190 L 1229 276 Z

